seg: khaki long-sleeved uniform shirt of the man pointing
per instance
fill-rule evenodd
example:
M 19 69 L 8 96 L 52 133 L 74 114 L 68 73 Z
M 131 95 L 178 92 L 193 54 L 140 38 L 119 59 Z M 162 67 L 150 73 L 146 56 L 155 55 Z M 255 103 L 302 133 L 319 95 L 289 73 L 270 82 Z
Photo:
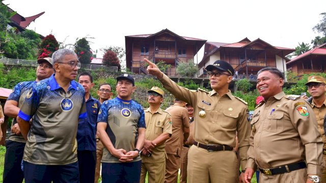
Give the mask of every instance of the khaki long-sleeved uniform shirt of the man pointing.
M 250 124 L 248 106 L 229 91 L 219 96 L 215 90 L 198 92 L 177 85 L 164 75 L 163 86 L 176 98 L 194 107 L 194 140 L 203 144 L 224 144 L 235 147 L 235 132 L 238 132 L 241 166 L 246 166 L 249 148 Z M 200 117 L 199 112 L 205 116 Z

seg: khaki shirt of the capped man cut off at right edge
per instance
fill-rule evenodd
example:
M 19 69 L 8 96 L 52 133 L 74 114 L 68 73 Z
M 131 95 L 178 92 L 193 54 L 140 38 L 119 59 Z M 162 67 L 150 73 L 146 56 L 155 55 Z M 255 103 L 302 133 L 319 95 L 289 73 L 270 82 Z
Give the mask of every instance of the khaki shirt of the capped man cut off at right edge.
M 314 101 L 312 101 L 311 107 L 315 113 L 317 123 L 318 123 L 318 130 L 321 135 L 322 142 L 324 143 L 323 149 L 326 149 L 326 136 L 324 132 L 324 117 L 326 114 L 326 100 L 324 101 L 321 107 L 316 107 Z

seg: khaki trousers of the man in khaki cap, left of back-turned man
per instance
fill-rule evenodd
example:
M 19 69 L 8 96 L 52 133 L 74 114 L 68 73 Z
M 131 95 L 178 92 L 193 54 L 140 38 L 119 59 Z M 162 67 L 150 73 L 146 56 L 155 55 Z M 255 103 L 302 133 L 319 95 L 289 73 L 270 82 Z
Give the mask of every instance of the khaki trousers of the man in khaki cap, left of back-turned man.
M 145 183 L 148 172 L 148 183 L 163 183 L 165 175 L 165 161 L 161 163 L 142 163 L 140 183 Z

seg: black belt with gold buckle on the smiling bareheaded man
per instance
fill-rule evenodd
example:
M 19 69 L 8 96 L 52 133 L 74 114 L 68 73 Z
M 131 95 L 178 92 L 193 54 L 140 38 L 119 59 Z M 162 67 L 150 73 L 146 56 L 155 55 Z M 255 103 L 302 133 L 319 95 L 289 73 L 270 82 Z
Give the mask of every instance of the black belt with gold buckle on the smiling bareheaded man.
M 294 170 L 298 170 L 298 169 L 302 169 L 302 168 L 306 168 L 306 167 L 307 167 L 306 163 L 304 161 L 302 161 L 299 163 L 284 165 L 284 166 L 280 166 L 277 168 L 270 168 L 270 169 L 258 168 L 258 169 L 261 173 L 263 173 L 265 175 L 276 175 L 276 174 L 287 173 L 290 171 L 294 171 Z

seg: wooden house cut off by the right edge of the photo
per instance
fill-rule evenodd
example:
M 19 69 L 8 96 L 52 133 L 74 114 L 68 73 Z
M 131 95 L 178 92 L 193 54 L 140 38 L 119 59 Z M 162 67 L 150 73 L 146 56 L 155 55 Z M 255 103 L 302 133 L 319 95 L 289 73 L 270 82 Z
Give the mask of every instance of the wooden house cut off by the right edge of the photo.
M 297 76 L 326 72 L 326 43 L 296 56 L 286 63 L 286 67 Z

